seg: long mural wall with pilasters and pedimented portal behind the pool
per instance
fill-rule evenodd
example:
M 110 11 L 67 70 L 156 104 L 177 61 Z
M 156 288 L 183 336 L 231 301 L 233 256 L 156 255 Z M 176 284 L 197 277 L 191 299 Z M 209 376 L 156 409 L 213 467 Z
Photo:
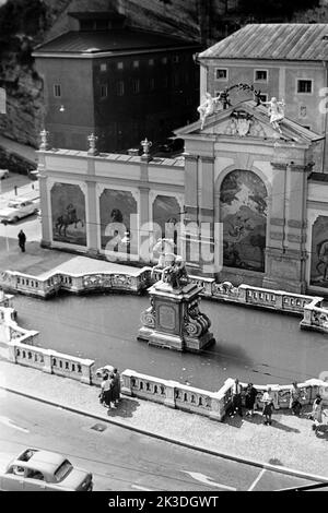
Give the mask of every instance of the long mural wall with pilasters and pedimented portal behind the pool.
M 323 294 L 328 181 L 313 172 L 323 135 L 288 118 L 280 128 L 245 100 L 177 130 L 176 159 L 44 145 L 43 244 L 144 265 L 166 236 L 192 274 Z

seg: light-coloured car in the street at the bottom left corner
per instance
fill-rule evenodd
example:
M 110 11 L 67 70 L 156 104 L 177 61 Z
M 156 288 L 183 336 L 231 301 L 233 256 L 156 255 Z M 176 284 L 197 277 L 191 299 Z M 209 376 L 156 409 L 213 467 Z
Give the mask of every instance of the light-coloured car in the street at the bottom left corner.
M 92 491 L 92 474 L 74 467 L 66 456 L 26 449 L 0 473 L 2 491 Z

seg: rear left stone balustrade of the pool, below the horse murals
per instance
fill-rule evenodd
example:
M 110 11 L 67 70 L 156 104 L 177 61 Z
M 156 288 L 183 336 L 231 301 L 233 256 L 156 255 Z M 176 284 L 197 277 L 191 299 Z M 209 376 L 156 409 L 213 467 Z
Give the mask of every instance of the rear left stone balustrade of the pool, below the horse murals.
M 16 291 L 40 298 L 47 298 L 67 290 L 72 294 L 102 290 L 125 290 L 139 294 L 149 285 L 150 267 L 143 267 L 138 274 L 128 273 L 55 273 L 46 278 L 24 273 L 5 271 L 0 273 L 0 286 L 5 290 Z

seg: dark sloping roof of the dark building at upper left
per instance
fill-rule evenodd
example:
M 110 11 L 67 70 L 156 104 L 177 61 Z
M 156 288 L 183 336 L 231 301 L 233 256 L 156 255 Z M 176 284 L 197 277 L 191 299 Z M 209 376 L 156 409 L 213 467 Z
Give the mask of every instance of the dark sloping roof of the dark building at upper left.
M 42 56 L 49 52 L 81 55 L 105 51 L 115 55 L 115 52 L 122 51 L 174 49 L 181 46 L 186 48 L 199 47 L 196 43 L 132 28 L 94 32 L 72 31 L 37 46 L 34 55 Z

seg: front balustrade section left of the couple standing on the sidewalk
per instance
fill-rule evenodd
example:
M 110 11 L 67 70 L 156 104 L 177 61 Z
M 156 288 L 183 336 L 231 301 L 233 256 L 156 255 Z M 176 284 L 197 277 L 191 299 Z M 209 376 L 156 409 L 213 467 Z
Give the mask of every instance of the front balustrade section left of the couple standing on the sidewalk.
M 44 349 L 30 344 L 11 341 L 8 343 L 9 361 L 25 367 L 61 375 L 82 383 L 92 384 L 94 360 L 65 355 L 51 349 Z

